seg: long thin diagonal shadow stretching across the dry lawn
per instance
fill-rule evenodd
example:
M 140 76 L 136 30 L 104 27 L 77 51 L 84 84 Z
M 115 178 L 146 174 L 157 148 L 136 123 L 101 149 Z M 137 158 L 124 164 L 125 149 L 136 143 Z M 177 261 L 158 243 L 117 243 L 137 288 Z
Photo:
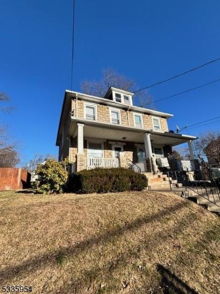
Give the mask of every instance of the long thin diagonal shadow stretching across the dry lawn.
M 33 268 L 34 270 L 37 270 L 38 268 L 44 267 L 47 264 L 56 261 L 56 259 L 58 259 L 60 255 L 64 254 L 64 252 L 67 257 L 71 256 L 72 254 L 74 254 L 74 257 L 76 257 L 78 254 L 86 249 L 91 248 L 95 244 L 99 244 L 100 242 L 110 242 L 113 238 L 124 234 L 126 231 L 133 231 L 146 223 L 158 221 L 163 217 L 175 213 L 183 207 L 187 207 L 188 205 L 188 202 L 180 202 L 174 206 L 167 207 L 166 209 L 163 209 L 162 211 L 159 211 L 154 215 L 144 215 L 141 218 L 137 218 L 130 223 L 126 223 L 122 227 L 114 228 L 99 236 L 92 236 L 88 240 L 85 240 L 79 244 L 62 247 L 55 252 L 45 253 L 42 256 L 29 259 L 23 262 L 21 265 L 8 267 L 5 270 L 0 271 L 0 281 L 4 281 L 5 279 L 10 280 L 11 278 L 18 277 L 20 275 L 25 276 L 25 272 L 27 270 L 33 270 Z

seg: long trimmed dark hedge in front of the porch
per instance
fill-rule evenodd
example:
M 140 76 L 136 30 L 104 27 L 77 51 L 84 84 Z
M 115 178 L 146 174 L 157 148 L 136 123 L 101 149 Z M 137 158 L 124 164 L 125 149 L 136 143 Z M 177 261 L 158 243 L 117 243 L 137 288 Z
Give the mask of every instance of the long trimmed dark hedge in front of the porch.
M 84 170 L 69 179 L 69 190 L 77 193 L 141 191 L 146 187 L 144 174 L 123 168 Z

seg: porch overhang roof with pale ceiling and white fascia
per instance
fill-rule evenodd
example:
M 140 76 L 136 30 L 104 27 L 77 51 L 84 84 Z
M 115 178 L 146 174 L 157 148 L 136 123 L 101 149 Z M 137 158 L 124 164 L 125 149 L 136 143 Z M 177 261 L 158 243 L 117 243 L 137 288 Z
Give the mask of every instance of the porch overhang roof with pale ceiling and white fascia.
M 153 140 L 152 144 L 170 146 L 179 145 L 189 140 L 197 139 L 197 137 L 195 136 L 174 134 L 169 132 L 158 132 L 143 128 L 135 128 L 131 126 L 123 126 L 111 123 L 100 123 L 84 119 L 76 119 L 74 117 L 71 118 L 71 124 L 68 133 L 69 136 L 76 137 L 77 123 L 83 123 L 85 125 L 84 138 L 144 143 L 144 134 L 149 133 L 151 134 L 151 140 Z

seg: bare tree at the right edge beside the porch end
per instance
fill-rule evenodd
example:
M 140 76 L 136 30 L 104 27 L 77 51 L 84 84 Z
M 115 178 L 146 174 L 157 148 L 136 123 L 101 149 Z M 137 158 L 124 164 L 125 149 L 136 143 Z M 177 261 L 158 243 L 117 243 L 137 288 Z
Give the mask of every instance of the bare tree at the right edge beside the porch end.
M 206 162 L 206 157 L 209 164 L 217 164 L 220 166 L 220 132 L 208 131 L 199 136 L 195 143 L 198 158 Z M 206 164 L 207 166 L 207 164 Z

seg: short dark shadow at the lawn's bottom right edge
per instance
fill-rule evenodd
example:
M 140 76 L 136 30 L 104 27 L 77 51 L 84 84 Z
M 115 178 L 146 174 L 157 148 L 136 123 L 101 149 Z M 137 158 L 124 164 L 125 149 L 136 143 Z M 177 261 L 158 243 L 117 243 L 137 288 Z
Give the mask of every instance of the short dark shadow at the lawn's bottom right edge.
M 190 288 L 185 282 L 179 279 L 174 273 L 158 264 L 157 270 L 161 275 L 162 293 L 164 294 L 198 294 L 194 289 Z

